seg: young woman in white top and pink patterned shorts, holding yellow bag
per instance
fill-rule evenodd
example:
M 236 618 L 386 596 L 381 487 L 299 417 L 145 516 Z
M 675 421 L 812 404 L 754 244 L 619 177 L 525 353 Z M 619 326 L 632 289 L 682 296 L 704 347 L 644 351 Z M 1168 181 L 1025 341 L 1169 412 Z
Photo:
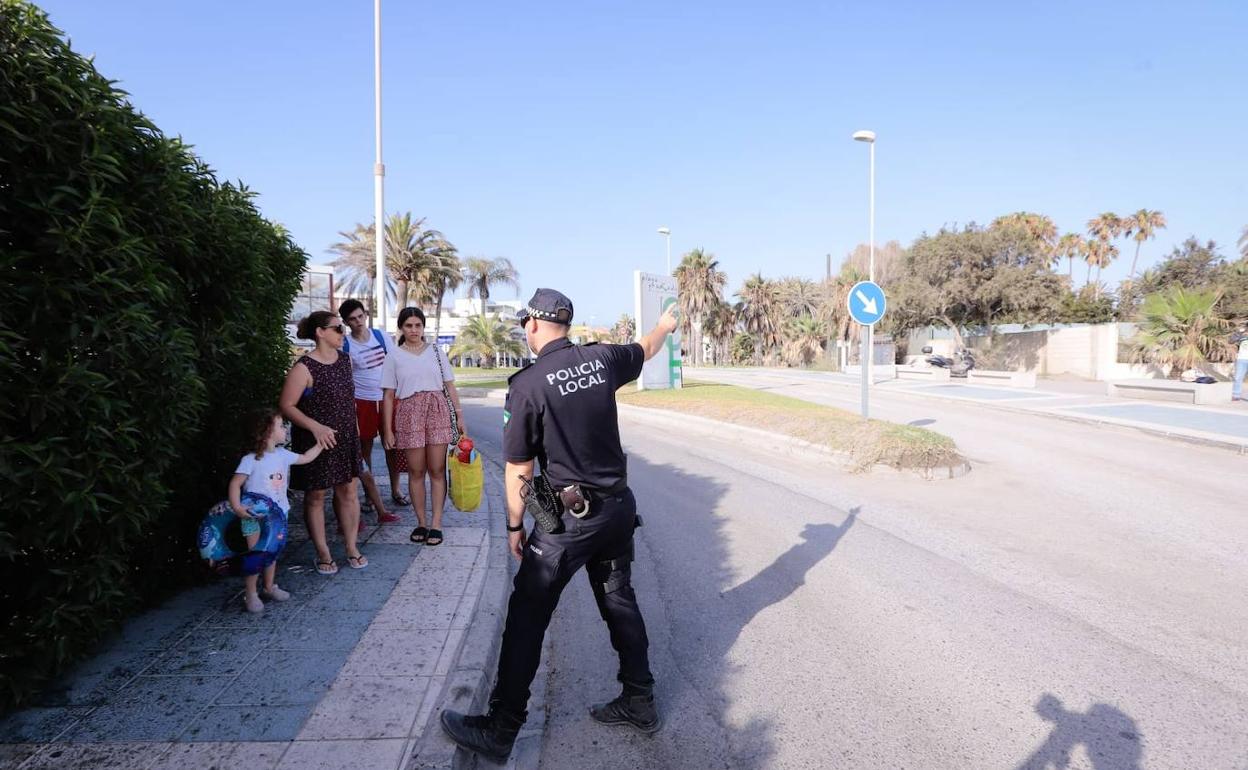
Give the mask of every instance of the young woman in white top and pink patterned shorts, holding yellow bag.
M 424 313 L 404 307 L 398 314 L 399 347 L 382 366 L 382 441 L 387 449 L 407 456 L 407 485 L 416 509 L 413 543 L 442 543 L 442 509 L 447 497 L 447 444 L 452 441 L 451 409 L 454 404 L 461 433 L 464 414 L 456 391 L 454 373 L 446 354 L 424 341 Z M 396 406 L 396 401 L 398 402 Z M 424 477 L 429 477 L 433 522 L 426 528 Z

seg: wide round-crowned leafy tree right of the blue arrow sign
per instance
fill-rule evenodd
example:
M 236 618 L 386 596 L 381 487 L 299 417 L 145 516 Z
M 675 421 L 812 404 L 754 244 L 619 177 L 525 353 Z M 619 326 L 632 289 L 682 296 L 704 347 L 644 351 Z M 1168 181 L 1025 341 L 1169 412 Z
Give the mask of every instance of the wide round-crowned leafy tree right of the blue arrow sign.
M 929 323 L 953 332 L 1017 319 L 1042 323 L 1057 317 L 1062 280 L 1050 256 L 1013 227 L 941 230 L 906 250 L 905 278 L 896 287 L 894 331 Z

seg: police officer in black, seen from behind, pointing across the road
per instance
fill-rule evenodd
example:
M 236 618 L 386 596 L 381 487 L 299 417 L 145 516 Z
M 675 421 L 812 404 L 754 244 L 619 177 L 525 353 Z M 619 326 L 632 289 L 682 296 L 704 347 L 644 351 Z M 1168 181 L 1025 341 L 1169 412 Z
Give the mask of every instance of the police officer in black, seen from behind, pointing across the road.
M 676 328 L 675 311 L 669 308 L 640 343 L 573 344 L 568 339 L 572 301 L 539 288 L 520 311 L 519 323 L 538 354 L 534 364 L 508 381 L 503 412 L 507 530 L 520 568 L 508 603 L 489 711 L 442 713 L 442 726 L 452 740 L 495 761 L 512 753 L 528 716 L 529 685 L 547 625 L 560 593 L 582 567 L 619 654 L 623 684 L 615 700 L 593 706 L 590 715 L 644 733 L 660 728 L 645 621 L 630 583 L 633 530 L 640 519 L 628 488 L 615 391 L 636 379 L 641 364 L 663 349 Z M 562 509 L 560 532 L 548 534 L 534 527 L 525 538 L 522 477 L 532 478 L 534 461 L 555 492 L 575 487 L 588 505 L 580 517 L 575 504 L 572 510 Z

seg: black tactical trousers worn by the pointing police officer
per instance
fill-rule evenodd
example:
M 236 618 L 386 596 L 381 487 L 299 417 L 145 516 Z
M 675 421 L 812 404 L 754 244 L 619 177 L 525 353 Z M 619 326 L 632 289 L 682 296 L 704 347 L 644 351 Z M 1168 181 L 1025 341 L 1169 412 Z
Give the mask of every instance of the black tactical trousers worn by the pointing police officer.
M 595 495 L 589 510 L 584 519 L 564 513 L 564 532 L 552 535 L 534 529 L 524 545 L 507 607 L 498 680 L 490 696 L 492 703 L 513 715 L 525 714 L 550 615 L 564 587 L 582 567 L 587 567 L 598 612 L 619 654 L 620 681 L 626 688 L 654 685 L 648 656 L 650 641 L 629 579 L 636 500 L 625 488 L 615 495 Z

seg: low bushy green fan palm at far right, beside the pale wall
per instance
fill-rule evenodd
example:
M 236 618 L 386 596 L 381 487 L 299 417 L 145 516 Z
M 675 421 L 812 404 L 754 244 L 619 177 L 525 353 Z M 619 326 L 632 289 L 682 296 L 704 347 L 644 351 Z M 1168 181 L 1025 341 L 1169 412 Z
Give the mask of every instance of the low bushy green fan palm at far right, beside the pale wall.
M 1217 313 L 1222 291 L 1174 286 L 1144 297 L 1139 332 L 1132 343 L 1137 362 L 1171 366 L 1171 376 L 1208 361 L 1229 359 L 1231 322 Z

